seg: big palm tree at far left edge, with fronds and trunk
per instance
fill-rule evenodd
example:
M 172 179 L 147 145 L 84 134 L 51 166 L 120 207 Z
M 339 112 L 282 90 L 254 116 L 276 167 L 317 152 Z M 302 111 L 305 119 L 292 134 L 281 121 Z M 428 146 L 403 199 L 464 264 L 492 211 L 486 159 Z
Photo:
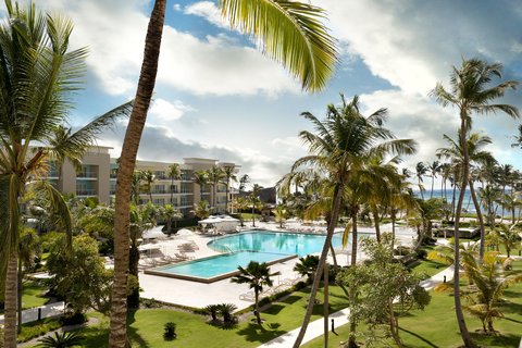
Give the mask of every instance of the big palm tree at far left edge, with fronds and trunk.
M 75 133 L 63 128 L 72 97 L 80 87 L 86 49 L 70 50 L 73 25 L 34 5 L 5 1 L 9 21 L 0 26 L 0 274 L 5 275 L 4 347 L 16 347 L 17 246 L 21 201 L 26 186 L 38 188 L 71 233 L 62 195 L 44 178 L 55 161 L 78 164 L 86 148 L 129 104 L 95 119 Z M 36 147 L 38 146 L 38 147 Z M 71 238 L 69 238 L 71 245 Z M 3 278 L 3 276 L 2 276 Z

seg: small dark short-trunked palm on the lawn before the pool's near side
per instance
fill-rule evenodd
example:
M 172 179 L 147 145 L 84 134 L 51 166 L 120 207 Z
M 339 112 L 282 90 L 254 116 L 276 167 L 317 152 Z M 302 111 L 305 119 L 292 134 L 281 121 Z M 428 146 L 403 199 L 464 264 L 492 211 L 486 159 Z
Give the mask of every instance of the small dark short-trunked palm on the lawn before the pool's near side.
M 246 269 L 238 266 L 239 274 L 232 277 L 231 282 L 238 284 L 248 284 L 253 289 L 256 319 L 261 325 L 261 315 L 259 313 L 259 294 L 263 291 L 263 286 L 272 286 L 272 276 L 279 275 L 279 272 L 270 273 L 269 265 L 263 262 L 250 261 Z

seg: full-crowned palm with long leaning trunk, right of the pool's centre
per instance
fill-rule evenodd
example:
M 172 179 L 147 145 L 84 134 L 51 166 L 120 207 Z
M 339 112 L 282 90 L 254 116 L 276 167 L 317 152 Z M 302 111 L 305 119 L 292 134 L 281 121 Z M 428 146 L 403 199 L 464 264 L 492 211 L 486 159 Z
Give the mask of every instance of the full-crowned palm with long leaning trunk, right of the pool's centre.
M 299 137 L 308 144 L 310 154 L 297 160 L 291 171 L 301 166 L 315 166 L 332 181 L 332 208 L 324 246 L 320 256 L 316 275 L 312 283 L 307 313 L 294 347 L 299 347 L 312 314 L 313 302 L 319 289 L 319 281 L 324 270 L 334 228 L 337 225 L 343 197 L 351 175 L 362 166 L 369 153 L 378 156 L 389 152 L 412 153 L 414 142 L 395 139 L 391 132 L 382 127 L 386 120 L 386 109 L 380 109 L 369 116 L 359 112 L 359 98 L 347 101 L 341 95 L 341 104 L 330 104 L 323 121 L 310 112 L 301 115 L 312 122 L 315 133 L 302 130 Z

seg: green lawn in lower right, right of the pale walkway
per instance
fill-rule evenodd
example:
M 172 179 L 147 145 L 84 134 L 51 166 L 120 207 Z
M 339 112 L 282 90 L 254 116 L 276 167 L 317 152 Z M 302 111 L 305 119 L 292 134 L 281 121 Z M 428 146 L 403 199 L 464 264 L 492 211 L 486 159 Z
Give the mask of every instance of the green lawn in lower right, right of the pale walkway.
M 518 261 L 514 269 L 522 270 L 522 262 Z M 406 347 L 459 347 L 462 345 L 459 328 L 455 318 L 453 297 L 449 293 L 431 293 L 432 302 L 424 311 L 412 311 L 410 315 L 399 319 L 400 337 Z M 522 333 L 522 284 L 508 288 L 505 293 L 506 302 L 499 306 L 506 318 L 494 323 L 499 335 L 483 335 L 481 322 L 465 314 L 468 330 L 481 347 L 518 347 Z M 465 300 L 463 299 L 463 303 Z M 361 325 L 360 330 L 363 330 Z M 330 333 L 330 347 L 338 347 L 340 341 L 348 339 L 348 325 Z M 381 346 L 394 346 L 391 340 Z M 303 347 L 323 347 L 323 338 L 318 337 Z

